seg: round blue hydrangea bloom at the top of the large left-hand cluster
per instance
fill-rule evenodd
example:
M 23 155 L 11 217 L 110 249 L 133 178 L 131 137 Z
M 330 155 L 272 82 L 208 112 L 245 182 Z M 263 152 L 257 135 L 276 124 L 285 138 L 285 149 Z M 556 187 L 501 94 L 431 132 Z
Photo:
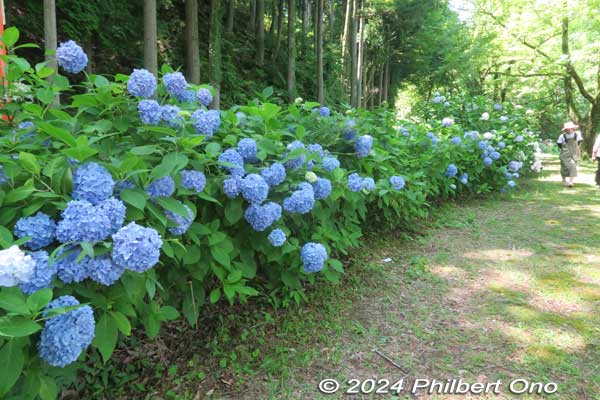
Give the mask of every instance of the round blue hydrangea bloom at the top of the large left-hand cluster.
M 73 199 L 85 200 L 92 204 L 112 196 L 115 181 L 110 172 L 96 163 L 79 166 L 73 174 Z

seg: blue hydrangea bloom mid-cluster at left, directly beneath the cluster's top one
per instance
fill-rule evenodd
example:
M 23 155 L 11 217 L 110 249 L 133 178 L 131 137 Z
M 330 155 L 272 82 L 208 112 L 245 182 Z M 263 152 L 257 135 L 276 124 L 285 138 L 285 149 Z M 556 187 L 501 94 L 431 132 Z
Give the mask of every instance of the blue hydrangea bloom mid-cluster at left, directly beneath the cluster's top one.
M 110 235 L 112 224 L 108 215 L 85 200 L 71 200 L 61 216 L 56 228 L 56 238 L 61 243 L 96 243 Z

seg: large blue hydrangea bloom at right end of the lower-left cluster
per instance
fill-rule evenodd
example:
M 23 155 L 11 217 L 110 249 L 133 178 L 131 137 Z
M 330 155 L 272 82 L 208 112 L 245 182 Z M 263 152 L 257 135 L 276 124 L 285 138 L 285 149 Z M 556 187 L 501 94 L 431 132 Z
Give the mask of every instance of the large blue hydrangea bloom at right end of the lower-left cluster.
M 155 229 L 130 222 L 112 235 L 112 238 L 112 259 L 118 265 L 135 272 L 144 272 L 158 263 L 162 239 Z

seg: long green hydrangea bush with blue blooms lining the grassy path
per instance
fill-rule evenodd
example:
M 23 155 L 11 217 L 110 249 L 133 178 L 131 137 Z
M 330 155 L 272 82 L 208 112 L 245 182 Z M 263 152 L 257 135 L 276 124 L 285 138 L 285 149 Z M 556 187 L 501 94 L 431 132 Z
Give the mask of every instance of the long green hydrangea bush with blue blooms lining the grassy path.
M 10 28 L 4 42 L 17 38 Z M 265 90 L 208 110 L 212 88 L 168 66 L 74 90 L 87 56 L 62 46 L 58 72 L 2 57 L 0 397 L 52 398 L 61 368 L 87 352 L 108 360 L 132 328 L 193 326 L 221 299 L 299 303 L 304 283 L 339 282 L 336 257 L 366 227 L 425 216 L 435 198 L 511 190 L 535 160 L 536 136 L 509 104 L 438 94 L 420 121 L 398 121 L 274 104 Z

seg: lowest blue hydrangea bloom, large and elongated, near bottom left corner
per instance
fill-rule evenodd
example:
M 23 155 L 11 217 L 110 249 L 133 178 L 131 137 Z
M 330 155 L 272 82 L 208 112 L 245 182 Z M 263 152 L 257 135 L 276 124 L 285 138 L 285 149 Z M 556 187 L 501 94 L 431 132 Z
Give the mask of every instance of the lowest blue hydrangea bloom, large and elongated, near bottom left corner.
M 75 297 L 61 296 L 48 304 L 44 315 L 53 308 L 78 305 Z M 40 357 L 54 367 L 64 368 L 75 362 L 92 343 L 95 329 L 94 312 L 90 306 L 48 318 L 40 336 Z

